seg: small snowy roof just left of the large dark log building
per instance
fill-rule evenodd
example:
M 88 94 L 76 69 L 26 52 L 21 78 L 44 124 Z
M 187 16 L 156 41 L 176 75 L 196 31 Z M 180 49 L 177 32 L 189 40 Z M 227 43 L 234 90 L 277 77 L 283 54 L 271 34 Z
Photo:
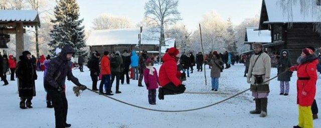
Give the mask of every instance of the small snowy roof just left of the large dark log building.
M 271 42 L 270 30 L 257 30 L 258 27 L 246 27 L 245 42 Z

